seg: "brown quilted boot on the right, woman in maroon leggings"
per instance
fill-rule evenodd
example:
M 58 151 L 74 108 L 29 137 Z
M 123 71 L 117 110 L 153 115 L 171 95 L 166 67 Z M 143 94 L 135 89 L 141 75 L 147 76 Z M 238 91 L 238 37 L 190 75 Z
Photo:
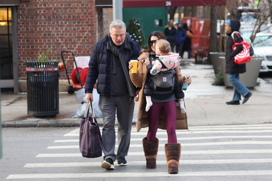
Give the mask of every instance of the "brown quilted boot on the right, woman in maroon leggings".
M 165 144 L 164 151 L 167 161 L 168 173 L 179 173 L 181 145 L 179 143 Z

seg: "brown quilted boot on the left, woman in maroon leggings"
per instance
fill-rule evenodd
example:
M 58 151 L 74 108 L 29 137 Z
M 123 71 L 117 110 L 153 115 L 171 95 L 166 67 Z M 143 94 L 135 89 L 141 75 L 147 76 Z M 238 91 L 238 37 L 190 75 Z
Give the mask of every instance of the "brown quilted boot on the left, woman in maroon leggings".
M 146 160 L 147 168 L 156 168 L 156 159 L 159 148 L 159 140 L 156 138 L 155 141 L 149 142 L 146 137 L 143 139 L 144 156 Z

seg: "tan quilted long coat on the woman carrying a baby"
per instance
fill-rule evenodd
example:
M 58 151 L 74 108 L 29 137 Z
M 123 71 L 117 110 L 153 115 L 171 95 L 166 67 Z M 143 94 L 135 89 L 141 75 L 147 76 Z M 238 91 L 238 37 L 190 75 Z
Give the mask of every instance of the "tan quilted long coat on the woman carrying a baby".
M 148 53 L 142 53 L 141 58 L 138 58 L 140 60 L 138 63 L 137 73 L 132 74 L 131 70 L 129 71 L 131 81 L 136 87 L 144 87 L 144 84 L 147 78 L 147 68 L 144 62 L 141 61 L 141 59 L 148 56 L 149 56 Z M 180 72 L 181 71 L 180 66 L 177 66 L 176 68 L 174 68 L 174 70 L 176 71 L 176 74 L 174 75 L 175 79 L 180 85 L 182 85 L 183 78 Z M 148 114 L 145 111 L 145 106 L 146 106 L 146 99 L 145 99 L 145 95 L 143 93 L 143 88 L 142 88 L 139 93 L 139 110 L 138 110 L 137 123 L 136 123 L 137 132 L 139 132 L 141 128 L 148 127 Z M 176 129 L 188 129 L 186 113 L 181 113 L 179 106 L 176 106 L 176 108 L 177 108 L 176 109 Z M 163 111 L 161 111 L 160 113 L 158 128 L 166 129 L 166 120 L 165 120 Z

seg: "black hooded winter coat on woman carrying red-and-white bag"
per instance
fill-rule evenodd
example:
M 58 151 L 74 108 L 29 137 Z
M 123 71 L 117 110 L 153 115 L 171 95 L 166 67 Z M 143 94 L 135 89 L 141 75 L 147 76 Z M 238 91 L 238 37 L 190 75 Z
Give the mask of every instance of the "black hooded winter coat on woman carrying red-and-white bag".
M 228 33 L 228 38 L 226 42 L 226 74 L 242 74 L 246 72 L 246 65 L 244 64 L 236 64 L 234 63 L 234 57 L 238 53 L 243 50 L 243 45 L 237 45 L 235 50 L 232 50 L 232 46 L 234 45 L 234 41 L 232 39 L 232 32 L 239 31 L 240 29 L 240 22 L 238 20 L 232 19 L 231 22 L 231 33 Z M 234 40 L 236 43 L 241 43 L 240 38 L 234 34 Z

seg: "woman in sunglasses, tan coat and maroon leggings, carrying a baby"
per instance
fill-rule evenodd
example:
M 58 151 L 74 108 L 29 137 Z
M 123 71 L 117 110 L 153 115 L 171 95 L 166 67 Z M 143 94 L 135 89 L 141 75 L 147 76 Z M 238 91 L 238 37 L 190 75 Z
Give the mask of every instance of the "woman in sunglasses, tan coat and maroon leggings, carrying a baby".
M 181 113 L 180 106 L 176 106 L 175 98 L 157 100 L 152 99 L 153 105 L 148 112 L 145 111 L 146 99 L 143 91 L 144 84 L 149 78 L 147 77 L 148 71 L 146 66 L 152 64 L 156 59 L 156 41 L 159 39 L 166 40 L 164 33 L 160 31 L 153 31 L 148 37 L 148 48 L 141 50 L 138 57 L 138 69 L 137 73 L 131 73 L 129 75 L 132 83 L 136 87 L 142 87 L 139 92 L 138 98 L 135 101 L 139 101 L 139 110 L 137 116 L 137 132 L 141 128 L 149 127 L 147 137 L 143 139 L 144 155 L 146 157 L 146 167 L 156 168 L 157 152 L 159 147 L 159 140 L 156 138 L 157 129 L 166 129 L 168 135 L 168 144 L 165 144 L 165 154 L 167 158 L 168 173 L 178 173 L 179 158 L 181 153 L 180 144 L 177 143 L 176 129 L 182 128 L 183 122 L 187 119 L 186 113 Z M 131 69 L 132 63 L 129 62 L 129 69 Z M 174 68 L 175 79 L 182 85 L 186 76 L 181 75 L 180 66 Z M 191 84 L 191 76 L 185 81 Z M 163 97 L 163 93 L 162 93 Z M 171 159 L 168 159 L 171 158 Z

